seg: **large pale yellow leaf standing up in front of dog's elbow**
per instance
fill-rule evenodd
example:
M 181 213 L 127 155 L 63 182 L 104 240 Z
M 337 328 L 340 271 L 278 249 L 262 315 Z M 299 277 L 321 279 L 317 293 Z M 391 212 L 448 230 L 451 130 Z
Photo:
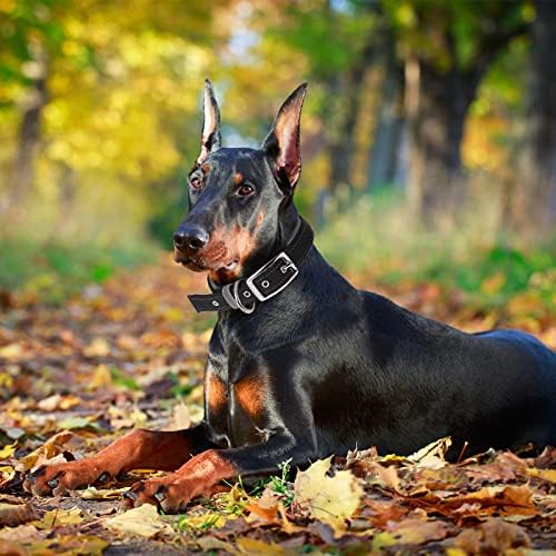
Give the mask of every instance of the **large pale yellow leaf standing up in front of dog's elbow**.
M 336 536 L 346 532 L 346 519 L 359 506 L 363 488 L 351 471 L 326 473 L 331 457 L 315 461 L 306 471 L 299 471 L 294 485 L 295 499 L 312 517 L 330 525 Z

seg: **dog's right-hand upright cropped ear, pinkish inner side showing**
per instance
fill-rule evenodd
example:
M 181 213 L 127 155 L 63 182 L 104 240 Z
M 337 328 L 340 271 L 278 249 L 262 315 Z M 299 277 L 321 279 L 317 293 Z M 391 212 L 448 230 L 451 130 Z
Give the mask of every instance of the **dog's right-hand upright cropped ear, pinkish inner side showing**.
M 284 102 L 265 141 L 266 151 L 280 181 L 290 188 L 297 183 L 301 173 L 301 152 L 299 149 L 299 120 L 304 106 L 307 83 L 300 85 Z

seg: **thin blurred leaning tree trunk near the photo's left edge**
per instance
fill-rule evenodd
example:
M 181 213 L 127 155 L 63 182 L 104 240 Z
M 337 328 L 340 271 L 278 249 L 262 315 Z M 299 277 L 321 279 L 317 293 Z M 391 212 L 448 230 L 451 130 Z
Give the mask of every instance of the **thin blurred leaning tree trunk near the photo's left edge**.
M 38 53 L 34 59 L 32 83 L 23 101 L 18 149 L 10 176 L 9 209 L 20 208 L 32 189 L 42 109 L 47 101 L 47 60 L 42 53 Z

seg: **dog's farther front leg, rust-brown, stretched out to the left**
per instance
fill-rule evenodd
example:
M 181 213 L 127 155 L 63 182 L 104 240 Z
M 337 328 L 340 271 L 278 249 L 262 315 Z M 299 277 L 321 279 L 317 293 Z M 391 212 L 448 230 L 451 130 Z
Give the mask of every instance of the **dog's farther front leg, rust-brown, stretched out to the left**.
M 23 487 L 36 495 L 51 496 L 100 485 L 132 469 L 172 471 L 210 446 L 202 424 L 176 431 L 137 429 L 95 456 L 40 467 L 26 477 Z

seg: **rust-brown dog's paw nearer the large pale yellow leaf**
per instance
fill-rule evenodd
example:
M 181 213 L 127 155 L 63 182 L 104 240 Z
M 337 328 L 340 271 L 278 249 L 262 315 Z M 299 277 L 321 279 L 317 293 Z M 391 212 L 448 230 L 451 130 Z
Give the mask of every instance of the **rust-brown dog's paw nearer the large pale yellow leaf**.
M 166 514 L 178 514 L 186 509 L 196 495 L 191 480 L 171 474 L 163 478 L 136 483 L 123 494 L 122 506 L 126 509 L 152 504 Z

